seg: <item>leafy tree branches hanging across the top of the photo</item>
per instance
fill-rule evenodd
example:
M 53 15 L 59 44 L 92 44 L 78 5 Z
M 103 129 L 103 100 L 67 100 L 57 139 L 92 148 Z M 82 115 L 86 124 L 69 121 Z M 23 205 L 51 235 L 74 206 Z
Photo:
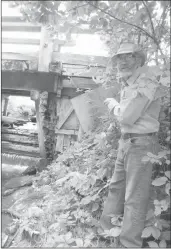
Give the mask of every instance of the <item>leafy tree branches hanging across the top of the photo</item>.
M 48 25 L 57 38 L 88 30 L 104 34 L 111 53 L 125 39 L 148 50 L 148 60 L 167 61 L 169 1 L 12 1 L 23 19 Z

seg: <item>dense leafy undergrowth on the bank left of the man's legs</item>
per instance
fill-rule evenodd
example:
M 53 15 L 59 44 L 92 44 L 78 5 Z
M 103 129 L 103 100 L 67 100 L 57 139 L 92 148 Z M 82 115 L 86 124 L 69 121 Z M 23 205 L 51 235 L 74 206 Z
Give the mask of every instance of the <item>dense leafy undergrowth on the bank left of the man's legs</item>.
M 104 128 L 84 137 L 37 177 L 31 194 L 43 194 L 43 198 L 21 220 L 20 239 L 47 247 L 104 243 L 98 220 L 117 152 L 109 133 Z M 113 139 L 117 136 L 113 134 Z M 110 233 L 107 237 L 118 236 L 117 231 Z

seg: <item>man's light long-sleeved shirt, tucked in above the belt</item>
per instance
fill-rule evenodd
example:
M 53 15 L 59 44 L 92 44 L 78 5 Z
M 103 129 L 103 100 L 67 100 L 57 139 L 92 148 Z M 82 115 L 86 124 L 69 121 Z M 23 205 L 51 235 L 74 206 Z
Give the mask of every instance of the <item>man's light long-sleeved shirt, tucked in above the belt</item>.
M 114 108 L 122 133 L 151 133 L 159 130 L 161 96 L 158 84 L 135 73 L 121 90 L 120 104 Z

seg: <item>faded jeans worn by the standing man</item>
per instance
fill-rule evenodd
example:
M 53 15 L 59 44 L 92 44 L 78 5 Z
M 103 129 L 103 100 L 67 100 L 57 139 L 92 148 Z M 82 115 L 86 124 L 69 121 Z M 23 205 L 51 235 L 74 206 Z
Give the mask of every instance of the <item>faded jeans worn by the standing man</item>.
M 142 246 L 142 231 L 150 199 L 152 164 L 143 163 L 147 152 L 157 154 L 156 136 L 130 138 L 119 141 L 114 174 L 100 219 L 104 230 L 114 227 L 110 214 L 123 215 L 120 242 L 125 247 Z

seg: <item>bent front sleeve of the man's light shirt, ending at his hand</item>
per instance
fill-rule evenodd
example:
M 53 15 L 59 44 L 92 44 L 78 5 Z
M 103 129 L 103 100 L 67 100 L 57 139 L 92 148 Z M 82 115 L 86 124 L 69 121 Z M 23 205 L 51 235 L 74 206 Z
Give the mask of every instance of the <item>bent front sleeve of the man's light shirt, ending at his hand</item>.
M 137 92 L 135 97 L 122 99 L 120 104 L 115 106 L 114 115 L 121 124 L 133 125 L 142 115 L 149 102 L 149 98 Z

